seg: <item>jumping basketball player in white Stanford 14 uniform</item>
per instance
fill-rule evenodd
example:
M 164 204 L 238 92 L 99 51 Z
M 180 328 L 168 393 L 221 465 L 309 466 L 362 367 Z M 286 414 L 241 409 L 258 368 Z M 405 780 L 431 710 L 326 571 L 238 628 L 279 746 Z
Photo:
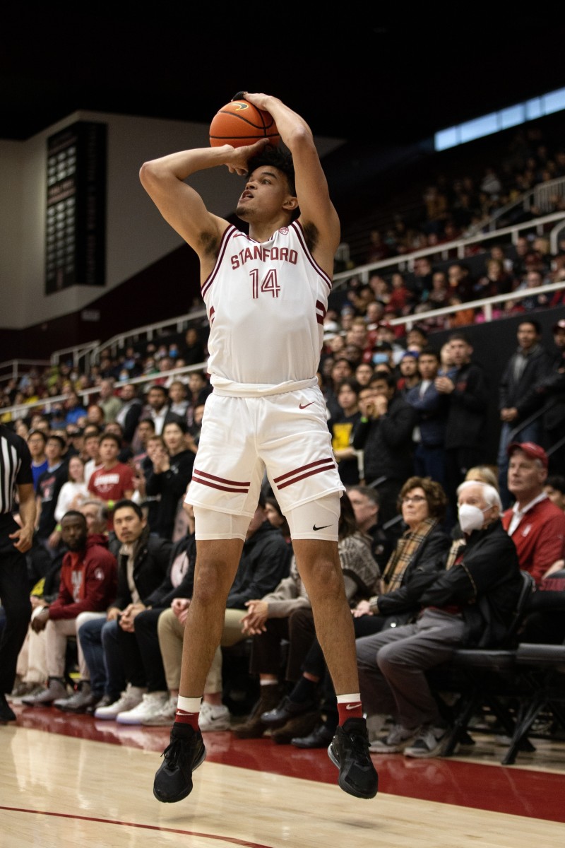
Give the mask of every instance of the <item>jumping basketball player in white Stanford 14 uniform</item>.
M 316 371 L 340 223 L 306 122 L 278 98 L 240 92 L 268 111 L 291 155 L 262 139 L 172 153 L 141 167 L 141 183 L 200 259 L 208 311 L 208 396 L 187 501 L 197 566 L 186 620 L 180 697 L 155 776 L 159 801 L 191 792 L 206 756 L 198 711 L 224 626 L 225 600 L 266 469 L 291 527 L 296 564 L 338 695 L 340 726 L 328 749 L 341 789 L 373 798 L 352 614 L 337 553 L 343 486 L 332 456 Z M 246 176 L 236 214 L 247 236 L 209 212 L 185 181 L 226 165 Z

